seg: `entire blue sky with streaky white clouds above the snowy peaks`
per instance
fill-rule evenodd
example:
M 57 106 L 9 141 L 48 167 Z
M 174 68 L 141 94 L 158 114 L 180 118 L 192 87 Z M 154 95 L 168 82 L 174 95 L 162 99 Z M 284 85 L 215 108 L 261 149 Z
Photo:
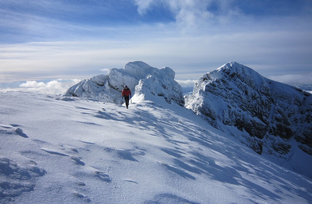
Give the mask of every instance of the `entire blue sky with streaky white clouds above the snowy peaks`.
M 172 68 L 183 84 L 230 61 L 312 84 L 311 20 L 310 0 L 0 0 L 0 88 L 136 60 Z

